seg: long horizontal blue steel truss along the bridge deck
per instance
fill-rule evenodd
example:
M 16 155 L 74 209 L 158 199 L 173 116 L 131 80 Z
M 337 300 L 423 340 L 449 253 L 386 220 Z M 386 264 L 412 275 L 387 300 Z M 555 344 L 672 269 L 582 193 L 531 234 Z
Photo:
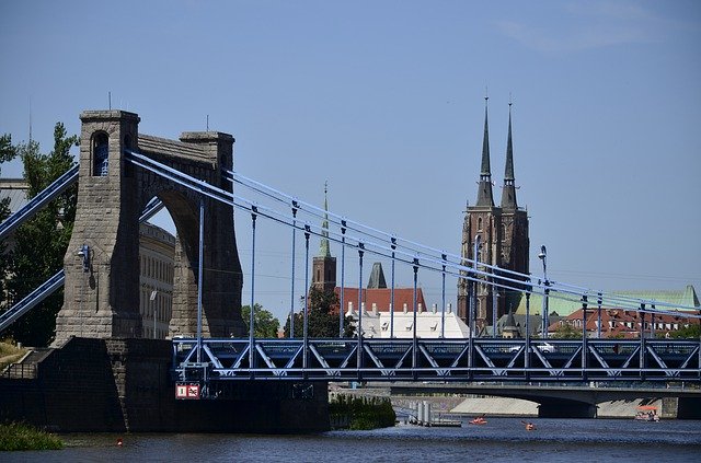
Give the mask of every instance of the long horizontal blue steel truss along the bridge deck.
M 174 380 L 701 381 L 686 339 L 197 339 L 173 340 Z M 251 348 L 253 347 L 253 355 Z M 361 349 L 358 355 L 358 349 Z M 416 349 L 416 351 L 414 351 Z M 250 367 L 251 358 L 255 368 Z M 358 366 L 358 362 L 360 367 Z M 303 368 L 307 364 L 307 368 Z

